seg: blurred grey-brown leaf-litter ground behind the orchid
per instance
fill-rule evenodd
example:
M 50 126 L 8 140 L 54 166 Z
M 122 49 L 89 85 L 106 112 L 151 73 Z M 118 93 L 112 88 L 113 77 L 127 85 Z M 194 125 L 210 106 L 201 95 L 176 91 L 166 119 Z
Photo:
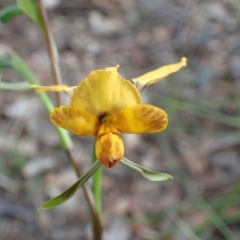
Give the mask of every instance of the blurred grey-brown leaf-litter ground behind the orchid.
M 10 4 L 0 0 L 1 9 Z M 45 5 L 67 85 L 98 68 L 120 64 L 120 74 L 131 79 L 188 58 L 187 67 L 143 92 L 145 103 L 168 113 L 167 130 L 124 136 L 128 159 L 174 179 L 149 182 L 122 164 L 104 168 L 104 240 L 240 239 L 240 2 Z M 13 47 L 40 82 L 51 85 L 46 46 L 31 20 L 21 15 L 0 25 L 0 44 Z M 13 70 L 1 77 L 23 81 Z M 59 207 L 36 211 L 76 176 L 33 91 L 1 90 L 0 129 L 0 239 L 91 239 L 81 190 Z M 74 156 L 87 171 L 94 139 L 73 140 Z

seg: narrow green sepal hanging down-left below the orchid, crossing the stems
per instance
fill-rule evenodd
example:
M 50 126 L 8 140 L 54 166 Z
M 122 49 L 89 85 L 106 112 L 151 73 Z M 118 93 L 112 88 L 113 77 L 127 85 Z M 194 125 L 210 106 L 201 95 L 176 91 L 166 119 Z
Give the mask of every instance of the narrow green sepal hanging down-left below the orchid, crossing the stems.
M 98 168 L 100 168 L 102 166 L 102 163 L 100 161 L 96 161 L 91 169 L 84 174 L 81 178 L 78 179 L 77 182 L 75 182 L 69 189 L 67 189 L 65 192 L 63 192 L 62 194 L 60 194 L 59 196 L 50 199 L 49 201 L 45 202 L 39 209 L 50 209 L 53 207 L 56 207 L 57 205 L 60 205 L 64 202 L 66 202 L 69 198 L 71 198 L 75 192 L 82 187 L 87 180 L 97 171 Z

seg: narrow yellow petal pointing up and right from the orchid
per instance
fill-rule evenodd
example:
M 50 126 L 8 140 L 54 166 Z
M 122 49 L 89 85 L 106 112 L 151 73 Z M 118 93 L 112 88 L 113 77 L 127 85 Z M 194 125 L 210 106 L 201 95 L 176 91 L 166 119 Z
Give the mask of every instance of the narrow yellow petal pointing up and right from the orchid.
M 162 66 L 156 70 L 145 73 L 140 77 L 133 78 L 132 81 L 138 87 L 138 89 L 142 91 L 148 85 L 164 79 L 168 75 L 179 71 L 182 67 L 185 66 L 187 66 L 187 58 L 182 57 L 181 61 L 178 63 Z

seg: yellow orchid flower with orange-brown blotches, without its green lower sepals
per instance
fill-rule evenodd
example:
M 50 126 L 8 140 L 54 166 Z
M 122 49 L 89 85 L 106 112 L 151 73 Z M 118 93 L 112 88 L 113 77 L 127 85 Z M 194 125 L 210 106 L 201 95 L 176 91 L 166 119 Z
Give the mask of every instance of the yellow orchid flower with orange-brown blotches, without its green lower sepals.
M 133 79 L 149 85 L 179 70 L 181 63 L 165 66 Z M 177 65 L 177 66 L 176 66 Z M 95 136 L 95 154 L 108 168 L 124 155 L 121 133 L 155 133 L 167 127 L 167 114 L 161 108 L 143 104 L 137 87 L 118 74 L 118 65 L 92 71 L 76 87 L 31 85 L 37 92 L 73 91 L 68 106 L 54 108 L 51 121 L 77 135 Z M 162 67 L 164 69 L 164 67 Z M 157 74 L 161 73 L 160 77 Z M 151 78 L 152 77 L 152 78 Z

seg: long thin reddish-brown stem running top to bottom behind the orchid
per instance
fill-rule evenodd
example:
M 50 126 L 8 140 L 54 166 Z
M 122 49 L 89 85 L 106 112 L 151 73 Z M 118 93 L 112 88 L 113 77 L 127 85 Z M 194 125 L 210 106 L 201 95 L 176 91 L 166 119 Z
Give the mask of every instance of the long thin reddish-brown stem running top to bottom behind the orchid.
M 44 33 L 45 40 L 46 40 L 47 50 L 48 50 L 49 59 L 51 62 L 53 76 L 54 76 L 54 83 L 56 85 L 58 85 L 61 83 L 61 73 L 60 73 L 60 69 L 59 69 L 59 65 L 58 65 L 58 59 L 57 59 L 57 56 L 54 53 L 54 49 L 53 49 L 53 39 L 51 36 L 47 13 L 42 4 L 42 0 L 37 0 L 37 2 L 39 5 L 40 15 L 41 15 L 43 27 L 45 30 L 45 33 Z M 58 95 L 57 95 L 57 100 L 58 100 L 58 105 L 61 105 L 60 93 L 58 93 Z M 76 161 L 74 160 L 71 149 L 66 149 L 66 154 L 67 154 L 69 162 L 72 165 L 72 167 L 74 168 L 77 176 L 80 177 L 82 175 L 82 170 L 77 165 Z M 93 196 L 92 196 L 91 192 L 89 191 L 89 189 L 85 185 L 83 186 L 83 192 L 84 192 L 85 198 L 88 202 L 88 205 L 89 205 L 89 208 L 91 211 L 91 215 L 92 215 L 92 219 L 93 219 L 94 240 L 101 240 L 102 239 L 102 225 L 101 225 L 101 221 L 100 221 L 99 215 L 97 213 L 97 210 L 96 210 L 96 207 L 94 204 Z

